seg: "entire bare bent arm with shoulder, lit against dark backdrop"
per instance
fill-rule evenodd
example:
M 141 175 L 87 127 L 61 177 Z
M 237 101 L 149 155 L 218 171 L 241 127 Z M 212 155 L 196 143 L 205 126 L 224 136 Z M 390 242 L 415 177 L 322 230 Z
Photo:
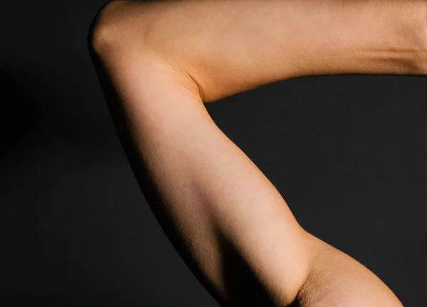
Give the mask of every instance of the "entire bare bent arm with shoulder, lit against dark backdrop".
M 90 50 L 147 201 L 221 306 L 402 306 L 297 223 L 204 103 L 304 75 L 426 75 L 427 1 L 112 1 Z

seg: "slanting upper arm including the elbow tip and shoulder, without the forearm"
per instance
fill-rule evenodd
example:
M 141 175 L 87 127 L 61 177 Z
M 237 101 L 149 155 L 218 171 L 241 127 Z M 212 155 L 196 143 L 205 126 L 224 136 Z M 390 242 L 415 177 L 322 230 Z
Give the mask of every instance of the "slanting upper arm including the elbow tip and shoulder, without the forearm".
M 194 80 L 144 45 L 144 14 L 126 5 L 101 11 L 93 60 L 144 195 L 206 289 L 244 306 L 401 306 L 362 264 L 300 227 L 218 129 Z

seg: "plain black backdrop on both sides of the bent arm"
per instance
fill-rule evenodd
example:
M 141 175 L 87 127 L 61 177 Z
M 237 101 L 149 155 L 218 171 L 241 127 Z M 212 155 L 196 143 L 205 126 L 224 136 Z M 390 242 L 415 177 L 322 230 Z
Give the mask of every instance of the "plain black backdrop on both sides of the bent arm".
M 5 1 L 3 306 L 218 306 L 139 190 L 86 45 L 105 1 Z M 285 80 L 208 104 L 302 227 L 423 306 L 427 79 Z

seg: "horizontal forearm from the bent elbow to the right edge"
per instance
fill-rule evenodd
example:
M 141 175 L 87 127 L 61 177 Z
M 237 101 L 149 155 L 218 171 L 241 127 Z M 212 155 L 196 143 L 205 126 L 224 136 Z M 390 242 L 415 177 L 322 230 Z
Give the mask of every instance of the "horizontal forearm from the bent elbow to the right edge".
M 204 102 L 303 75 L 424 73 L 426 1 L 124 3 L 107 35 L 156 50 Z

